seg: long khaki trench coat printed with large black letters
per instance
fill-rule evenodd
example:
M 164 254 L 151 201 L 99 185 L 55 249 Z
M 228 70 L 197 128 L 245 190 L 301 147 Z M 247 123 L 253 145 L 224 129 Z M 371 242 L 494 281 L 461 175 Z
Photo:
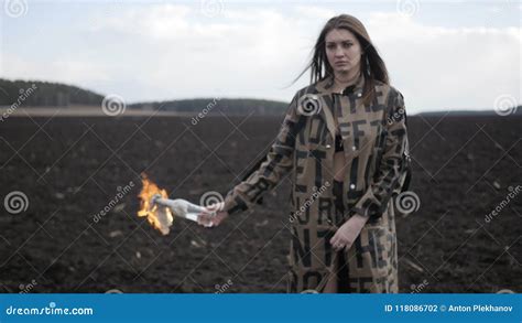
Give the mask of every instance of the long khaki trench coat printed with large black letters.
M 287 291 L 323 292 L 342 274 L 345 292 L 398 292 L 391 197 L 401 192 L 410 161 L 403 96 L 377 82 L 376 98 L 365 106 L 362 74 L 342 94 L 333 85 L 331 76 L 324 77 L 295 94 L 265 159 L 228 192 L 224 207 L 230 215 L 251 208 L 290 175 Z M 347 162 L 344 214 L 333 193 L 336 133 Z M 329 239 L 356 213 L 370 218 L 351 248 L 336 252 Z

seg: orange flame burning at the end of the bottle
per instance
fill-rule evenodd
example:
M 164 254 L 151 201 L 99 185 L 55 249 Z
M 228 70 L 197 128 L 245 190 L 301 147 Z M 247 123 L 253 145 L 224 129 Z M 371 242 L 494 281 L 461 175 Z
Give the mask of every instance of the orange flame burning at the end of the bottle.
M 163 235 L 167 235 L 173 220 L 171 209 L 168 207 L 159 207 L 155 204 L 151 205 L 151 198 L 155 194 L 160 194 L 163 198 L 168 198 L 166 191 L 157 187 L 144 173 L 141 174 L 141 183 L 143 187 L 138 195 L 141 200 L 138 216 L 146 216 L 146 219 L 155 229 L 160 230 Z

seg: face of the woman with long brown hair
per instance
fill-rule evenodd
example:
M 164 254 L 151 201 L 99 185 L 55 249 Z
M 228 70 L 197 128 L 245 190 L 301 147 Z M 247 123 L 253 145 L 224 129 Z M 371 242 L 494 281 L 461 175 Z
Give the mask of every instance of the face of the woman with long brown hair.
M 360 68 L 361 46 L 356 35 L 346 29 L 334 29 L 325 37 L 326 57 L 335 74 Z

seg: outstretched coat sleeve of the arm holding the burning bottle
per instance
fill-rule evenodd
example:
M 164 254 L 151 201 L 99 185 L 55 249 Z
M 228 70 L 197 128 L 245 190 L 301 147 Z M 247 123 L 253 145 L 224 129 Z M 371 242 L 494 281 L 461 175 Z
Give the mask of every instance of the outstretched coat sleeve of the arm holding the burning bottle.
M 274 189 L 292 170 L 297 123 L 302 122 L 297 114 L 297 101 L 296 94 L 289 105 L 278 137 L 259 169 L 227 193 L 222 209 L 228 214 L 251 208 L 264 193 Z

